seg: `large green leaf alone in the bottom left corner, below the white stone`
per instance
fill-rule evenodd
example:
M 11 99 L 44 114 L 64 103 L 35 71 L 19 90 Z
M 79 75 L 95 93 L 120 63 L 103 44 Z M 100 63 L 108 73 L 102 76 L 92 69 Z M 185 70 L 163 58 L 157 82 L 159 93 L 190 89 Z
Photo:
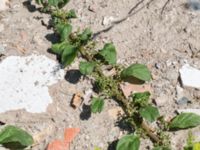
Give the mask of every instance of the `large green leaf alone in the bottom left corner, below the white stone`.
M 9 125 L 0 131 L 0 144 L 11 149 L 22 149 L 32 145 L 33 138 L 26 131 Z

